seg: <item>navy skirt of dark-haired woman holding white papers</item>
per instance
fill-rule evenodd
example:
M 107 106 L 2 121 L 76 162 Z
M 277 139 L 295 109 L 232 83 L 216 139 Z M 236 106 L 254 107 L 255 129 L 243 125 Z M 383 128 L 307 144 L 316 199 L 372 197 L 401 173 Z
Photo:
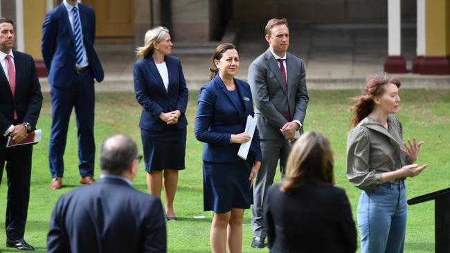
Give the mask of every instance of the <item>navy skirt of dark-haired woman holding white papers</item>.
M 250 189 L 251 162 L 203 162 L 204 210 L 223 214 L 233 208 L 248 209 L 253 204 Z

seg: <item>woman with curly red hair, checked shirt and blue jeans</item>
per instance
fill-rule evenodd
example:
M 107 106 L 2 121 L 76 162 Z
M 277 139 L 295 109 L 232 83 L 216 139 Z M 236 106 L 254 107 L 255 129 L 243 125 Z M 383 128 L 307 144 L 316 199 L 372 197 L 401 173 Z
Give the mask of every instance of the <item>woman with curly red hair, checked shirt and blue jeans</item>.
M 377 74 L 352 106 L 347 142 L 347 178 L 361 189 L 358 225 L 361 252 L 403 252 L 406 231 L 404 180 L 420 174 L 415 165 L 424 142 L 403 142 L 398 79 Z

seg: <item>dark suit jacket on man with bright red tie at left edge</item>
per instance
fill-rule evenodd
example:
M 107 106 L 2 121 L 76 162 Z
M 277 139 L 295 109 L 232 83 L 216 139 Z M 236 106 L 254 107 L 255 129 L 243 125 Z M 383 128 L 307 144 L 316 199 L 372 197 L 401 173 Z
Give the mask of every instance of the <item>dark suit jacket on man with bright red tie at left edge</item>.
M 12 50 L 12 54 L 16 69 L 15 97 L 0 65 L 0 147 L 6 145 L 3 133 L 14 122 L 14 110 L 17 112 L 17 122 L 28 122 L 35 129 L 42 106 L 41 84 L 33 57 L 16 50 Z

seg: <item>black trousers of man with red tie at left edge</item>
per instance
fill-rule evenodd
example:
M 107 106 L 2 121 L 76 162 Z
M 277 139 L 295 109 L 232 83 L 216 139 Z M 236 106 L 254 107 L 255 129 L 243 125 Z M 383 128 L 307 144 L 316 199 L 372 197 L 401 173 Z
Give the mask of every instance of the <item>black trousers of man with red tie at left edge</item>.
M 2 143 L 3 144 L 3 143 Z M 0 182 L 6 163 L 8 199 L 6 200 L 6 236 L 24 238 L 28 200 L 30 199 L 31 156 L 33 145 L 19 145 L 0 150 Z

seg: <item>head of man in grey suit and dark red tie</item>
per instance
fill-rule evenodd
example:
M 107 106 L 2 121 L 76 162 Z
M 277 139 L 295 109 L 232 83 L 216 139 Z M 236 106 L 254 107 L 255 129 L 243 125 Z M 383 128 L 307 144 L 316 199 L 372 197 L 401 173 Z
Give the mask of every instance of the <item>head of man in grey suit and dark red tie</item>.
M 286 19 L 270 19 L 266 25 L 266 40 L 273 53 L 282 57 L 289 47 L 289 27 Z

